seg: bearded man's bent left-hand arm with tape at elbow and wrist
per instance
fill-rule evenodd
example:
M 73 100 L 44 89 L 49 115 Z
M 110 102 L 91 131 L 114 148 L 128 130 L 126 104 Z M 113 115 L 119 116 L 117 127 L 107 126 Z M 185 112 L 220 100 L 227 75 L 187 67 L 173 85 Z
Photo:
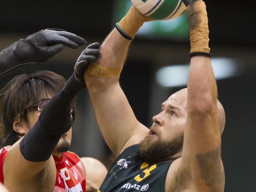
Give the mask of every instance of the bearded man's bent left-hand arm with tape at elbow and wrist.
M 119 85 L 131 39 L 147 19 L 132 7 L 103 42 L 99 59 L 85 73 L 98 126 L 115 155 L 138 143 L 148 132 L 134 116 Z

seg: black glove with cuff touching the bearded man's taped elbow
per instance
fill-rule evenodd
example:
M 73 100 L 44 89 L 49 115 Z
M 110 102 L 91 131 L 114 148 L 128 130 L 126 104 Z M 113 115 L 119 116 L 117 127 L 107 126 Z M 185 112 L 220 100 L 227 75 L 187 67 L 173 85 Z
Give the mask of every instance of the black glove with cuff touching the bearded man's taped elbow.
M 95 42 L 87 46 L 83 50 L 82 54 L 78 57 L 76 65 L 74 66 L 74 73 L 67 81 L 64 91 L 68 93 L 77 93 L 81 89 L 85 88 L 85 80 L 83 74 L 91 62 L 95 62 L 100 53 L 99 51 L 100 44 Z

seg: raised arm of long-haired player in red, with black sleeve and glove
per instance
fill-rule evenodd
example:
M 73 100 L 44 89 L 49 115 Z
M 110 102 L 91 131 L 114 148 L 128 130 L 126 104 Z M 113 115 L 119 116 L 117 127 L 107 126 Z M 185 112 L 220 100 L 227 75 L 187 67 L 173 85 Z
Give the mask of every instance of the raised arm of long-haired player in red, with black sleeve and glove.
M 71 102 L 85 88 L 83 73 L 95 60 L 96 56 L 80 55 L 65 87 L 47 103 L 28 133 L 10 148 L 3 168 L 4 185 L 9 190 L 37 191 L 39 182 L 44 183 L 46 191 L 54 187 L 56 167 L 51 155 L 62 135 L 72 127 Z

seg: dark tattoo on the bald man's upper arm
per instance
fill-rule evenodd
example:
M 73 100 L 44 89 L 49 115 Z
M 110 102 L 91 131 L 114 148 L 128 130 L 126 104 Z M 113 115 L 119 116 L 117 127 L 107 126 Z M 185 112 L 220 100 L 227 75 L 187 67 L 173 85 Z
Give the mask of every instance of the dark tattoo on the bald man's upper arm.
M 196 155 L 201 177 L 213 192 L 223 191 L 225 185 L 225 173 L 220 153 L 221 145 L 208 153 Z

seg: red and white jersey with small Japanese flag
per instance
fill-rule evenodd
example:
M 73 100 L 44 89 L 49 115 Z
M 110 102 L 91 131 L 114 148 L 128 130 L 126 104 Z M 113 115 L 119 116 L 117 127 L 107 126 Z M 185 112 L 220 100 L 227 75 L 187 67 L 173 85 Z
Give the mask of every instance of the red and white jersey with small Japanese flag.
M 0 150 L 0 182 L 4 183 L 3 165 L 11 146 Z M 56 165 L 56 181 L 52 192 L 85 192 L 85 174 L 79 157 L 72 152 L 64 152 L 61 157 L 53 156 Z

